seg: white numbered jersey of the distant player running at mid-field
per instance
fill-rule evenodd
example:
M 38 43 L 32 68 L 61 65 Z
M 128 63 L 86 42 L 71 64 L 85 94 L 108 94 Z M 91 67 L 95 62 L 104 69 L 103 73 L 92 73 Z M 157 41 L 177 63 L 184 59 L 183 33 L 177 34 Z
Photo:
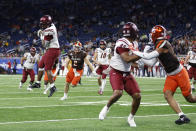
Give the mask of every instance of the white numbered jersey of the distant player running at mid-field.
M 97 52 L 97 61 L 101 63 L 101 65 L 109 65 L 109 54 L 111 53 L 110 48 L 106 48 L 102 50 L 101 48 L 96 49 Z

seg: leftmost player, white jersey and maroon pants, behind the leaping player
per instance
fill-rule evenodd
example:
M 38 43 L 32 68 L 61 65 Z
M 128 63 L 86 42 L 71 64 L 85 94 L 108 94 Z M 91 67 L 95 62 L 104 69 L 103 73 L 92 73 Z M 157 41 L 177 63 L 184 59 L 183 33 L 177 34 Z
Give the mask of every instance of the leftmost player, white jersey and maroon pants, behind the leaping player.
M 23 67 L 22 80 L 20 81 L 19 88 L 26 82 L 28 75 L 30 75 L 31 81 L 29 82 L 29 87 L 27 90 L 31 91 L 30 88 L 35 80 L 34 65 L 39 63 L 39 54 L 36 53 L 36 48 L 32 47 L 30 53 L 25 53 L 24 57 L 21 59 L 21 66 Z M 23 64 L 24 63 L 24 64 Z

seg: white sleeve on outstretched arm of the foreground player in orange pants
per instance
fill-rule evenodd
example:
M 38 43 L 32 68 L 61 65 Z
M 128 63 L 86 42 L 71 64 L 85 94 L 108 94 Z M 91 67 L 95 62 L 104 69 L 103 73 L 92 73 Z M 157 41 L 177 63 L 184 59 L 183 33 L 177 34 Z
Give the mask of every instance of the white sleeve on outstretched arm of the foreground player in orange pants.
M 159 56 L 159 53 L 156 50 L 152 51 L 150 53 L 142 53 L 140 51 L 133 51 L 133 53 L 139 57 L 144 58 L 144 59 L 152 59 L 152 58 Z

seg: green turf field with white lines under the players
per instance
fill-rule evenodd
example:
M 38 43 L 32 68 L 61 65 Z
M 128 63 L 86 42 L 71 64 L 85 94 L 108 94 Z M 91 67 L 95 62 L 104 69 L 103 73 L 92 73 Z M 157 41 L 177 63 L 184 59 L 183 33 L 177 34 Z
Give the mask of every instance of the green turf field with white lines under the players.
M 135 117 L 136 128 L 129 127 L 127 117 L 132 99 L 125 92 L 112 106 L 104 121 L 98 119 L 99 112 L 112 94 L 107 81 L 104 95 L 97 94 L 96 78 L 82 78 L 82 85 L 70 88 L 66 101 L 63 96 L 65 78 L 58 77 L 58 92 L 48 98 L 42 89 L 26 90 L 28 82 L 18 89 L 21 75 L 0 76 L 0 131 L 195 131 L 196 104 L 185 101 L 178 89 L 175 98 L 190 124 L 176 125 L 178 116 L 167 105 L 162 88 L 164 79 L 138 78 L 142 101 Z M 29 79 L 28 79 L 29 80 Z M 196 95 L 196 93 L 194 93 Z

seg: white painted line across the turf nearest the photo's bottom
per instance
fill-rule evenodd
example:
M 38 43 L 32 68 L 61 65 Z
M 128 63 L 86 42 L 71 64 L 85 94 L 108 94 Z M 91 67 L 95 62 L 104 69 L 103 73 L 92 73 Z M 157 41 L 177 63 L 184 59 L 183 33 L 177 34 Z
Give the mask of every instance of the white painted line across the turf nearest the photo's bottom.
M 187 115 L 195 115 L 196 113 L 187 113 Z M 146 116 L 135 116 L 136 118 L 144 118 L 144 117 L 166 117 L 166 116 L 174 116 L 177 114 L 165 114 L 165 115 L 146 115 Z M 123 117 L 107 117 L 107 119 L 124 119 L 127 116 Z M 8 125 L 8 124 L 25 124 L 25 123 L 44 123 L 44 122 L 62 122 L 62 121 L 77 121 L 77 120 L 98 120 L 98 118 L 75 118 L 75 119 L 56 119 L 56 120 L 40 120 L 40 121 L 16 121 L 16 122 L 1 122 L 0 125 Z

